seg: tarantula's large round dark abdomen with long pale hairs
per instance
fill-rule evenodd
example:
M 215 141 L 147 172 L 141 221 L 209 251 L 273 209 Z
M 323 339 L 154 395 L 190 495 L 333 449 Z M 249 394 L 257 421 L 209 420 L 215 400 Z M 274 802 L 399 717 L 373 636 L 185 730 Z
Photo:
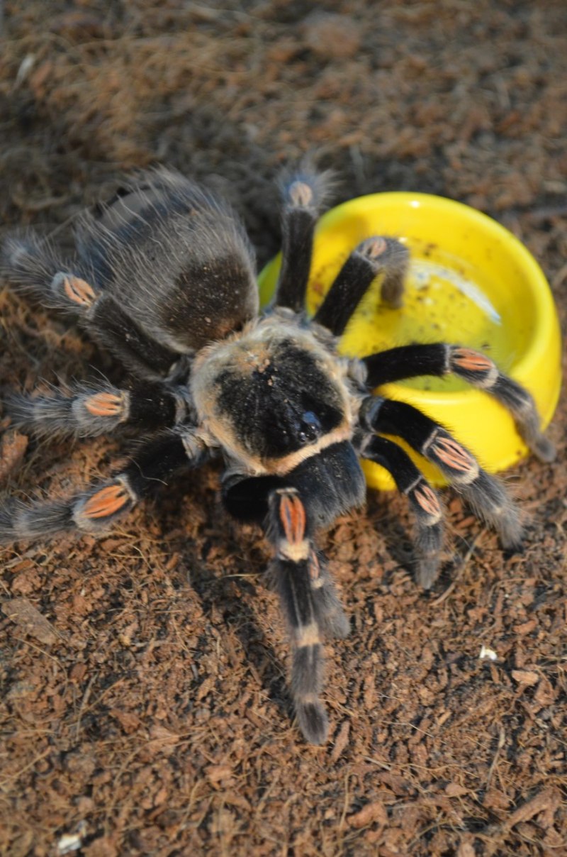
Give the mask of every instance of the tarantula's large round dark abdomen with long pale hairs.
M 236 213 L 178 173 L 147 171 L 77 234 L 81 267 L 152 339 L 198 351 L 258 311 L 254 251 Z

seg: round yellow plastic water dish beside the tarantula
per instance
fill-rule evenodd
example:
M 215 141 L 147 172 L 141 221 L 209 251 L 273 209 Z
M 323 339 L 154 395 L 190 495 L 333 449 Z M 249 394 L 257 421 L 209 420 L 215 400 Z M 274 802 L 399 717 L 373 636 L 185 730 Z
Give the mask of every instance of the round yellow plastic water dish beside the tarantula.
M 379 283 L 373 285 L 349 321 L 341 353 L 363 357 L 416 342 L 469 345 L 528 388 L 546 427 L 561 386 L 561 338 L 549 285 L 522 243 L 460 202 L 413 193 L 361 196 L 319 221 L 307 289 L 309 314 L 352 249 L 373 235 L 396 237 L 409 248 L 403 307 L 381 305 Z M 263 304 L 272 297 L 280 263 L 278 255 L 260 273 Z M 460 379 L 422 377 L 387 384 L 379 393 L 443 423 L 486 470 L 504 470 L 528 454 L 508 411 Z M 434 484 L 444 484 L 438 470 L 410 454 Z M 379 464 L 363 462 L 363 467 L 373 488 L 394 488 Z

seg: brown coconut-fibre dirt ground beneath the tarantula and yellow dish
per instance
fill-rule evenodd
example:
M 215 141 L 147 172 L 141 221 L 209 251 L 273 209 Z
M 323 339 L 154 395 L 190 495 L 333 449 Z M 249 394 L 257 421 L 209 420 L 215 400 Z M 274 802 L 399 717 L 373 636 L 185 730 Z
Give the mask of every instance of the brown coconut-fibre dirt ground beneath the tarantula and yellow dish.
M 316 152 L 343 177 L 339 200 L 420 189 L 491 213 L 539 259 L 564 324 L 564 0 L 316 9 L 7 0 L 0 230 L 66 242 L 85 203 L 161 161 L 230 195 L 265 261 L 273 177 Z M 0 302 L 3 383 L 113 371 L 60 320 Z M 62 854 L 63 836 L 79 857 L 567 854 L 565 409 L 559 464 L 508 476 L 524 554 L 505 560 L 451 497 L 430 596 L 396 496 L 373 494 L 322 539 L 352 617 L 327 647 L 324 747 L 292 724 L 266 547 L 227 524 L 218 473 L 102 541 L 3 550 L 2 854 Z M 112 440 L 25 446 L 4 442 L 9 493 L 69 492 L 120 454 Z

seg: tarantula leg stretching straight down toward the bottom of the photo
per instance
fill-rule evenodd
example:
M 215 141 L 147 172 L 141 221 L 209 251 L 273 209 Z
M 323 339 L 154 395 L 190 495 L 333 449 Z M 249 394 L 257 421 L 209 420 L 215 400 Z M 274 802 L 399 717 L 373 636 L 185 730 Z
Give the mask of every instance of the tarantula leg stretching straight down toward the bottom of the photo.
M 325 600 L 330 589 L 325 586 L 324 566 L 313 549 L 299 493 L 295 488 L 279 488 L 270 494 L 268 502 L 267 536 L 275 551 L 271 572 L 291 638 L 295 711 L 305 738 L 312 744 L 323 744 L 329 724 L 319 700 L 323 686 L 321 633 L 325 616 L 330 617 L 336 605 L 332 596 Z

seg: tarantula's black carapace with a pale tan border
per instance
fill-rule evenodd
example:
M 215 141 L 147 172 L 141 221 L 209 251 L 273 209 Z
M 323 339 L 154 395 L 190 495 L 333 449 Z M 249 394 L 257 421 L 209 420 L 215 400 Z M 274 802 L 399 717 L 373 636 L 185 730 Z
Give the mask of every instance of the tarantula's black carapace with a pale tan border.
M 312 333 L 269 316 L 196 357 L 191 392 L 199 422 L 241 467 L 285 473 L 351 436 L 349 390 L 338 368 Z

